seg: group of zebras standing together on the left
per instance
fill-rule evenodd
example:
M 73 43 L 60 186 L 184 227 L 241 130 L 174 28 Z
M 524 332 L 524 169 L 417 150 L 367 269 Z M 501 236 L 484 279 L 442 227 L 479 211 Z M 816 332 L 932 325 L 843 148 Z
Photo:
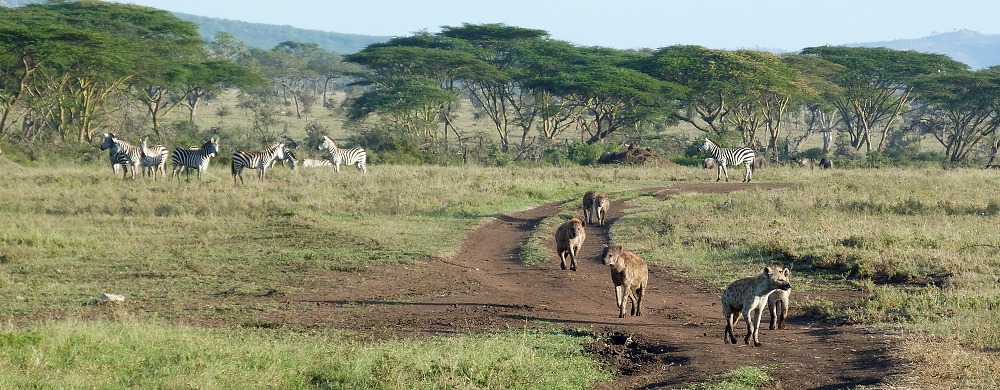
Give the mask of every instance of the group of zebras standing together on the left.
M 318 149 L 326 152 L 327 159 L 305 159 L 302 160 L 301 166 L 333 166 L 337 172 L 340 172 L 341 165 L 357 165 L 359 171 L 368 173 L 368 155 L 362 148 L 341 149 L 337 147 L 337 144 L 330 137 L 323 136 L 323 141 L 320 143 Z M 160 175 L 166 180 L 167 148 L 163 145 L 150 146 L 147 144 L 146 139 L 142 140 L 141 145 L 134 145 L 117 137 L 114 133 L 104 133 L 104 142 L 101 143 L 101 150 L 108 151 L 108 158 L 116 175 L 119 168 L 123 170 L 123 179 L 128 177 L 130 170 L 132 178 L 135 179 L 136 172 L 141 169 L 143 176 L 148 175 L 156 180 L 157 175 Z M 209 162 L 218 153 L 218 137 L 213 137 L 205 141 L 201 146 L 174 148 L 173 153 L 170 154 L 172 166 L 171 179 L 183 170 L 186 171 L 188 180 L 190 180 L 191 170 L 193 169 L 197 169 L 198 178 L 203 179 Z M 249 151 L 237 149 L 233 152 L 232 158 L 231 172 L 233 183 L 237 182 L 237 178 L 239 178 L 241 183 L 243 182 L 244 169 L 259 170 L 257 177 L 259 180 L 264 180 L 264 173 L 267 171 L 267 168 L 277 162 L 283 161 L 288 161 L 289 167 L 292 170 L 295 170 L 299 166 L 299 162 L 295 158 L 295 153 L 292 149 L 286 147 L 284 143 L 275 142 L 262 150 Z

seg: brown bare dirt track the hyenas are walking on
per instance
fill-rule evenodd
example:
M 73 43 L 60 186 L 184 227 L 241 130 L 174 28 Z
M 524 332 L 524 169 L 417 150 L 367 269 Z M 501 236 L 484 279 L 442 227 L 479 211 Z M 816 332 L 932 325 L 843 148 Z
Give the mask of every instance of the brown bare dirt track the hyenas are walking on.
M 723 193 L 746 188 L 786 187 L 773 183 L 698 183 L 656 189 L 666 197 L 680 192 Z M 576 200 L 574 200 L 576 202 Z M 840 389 L 882 383 L 901 374 L 891 340 L 842 324 L 814 322 L 796 301 L 822 296 L 840 304 L 858 295 L 796 292 L 787 329 L 767 329 L 761 347 L 726 344 L 720 290 L 677 270 L 651 267 L 643 316 L 620 319 L 610 273 L 600 264 L 607 227 L 588 226 L 579 270 L 559 269 L 554 243 L 549 263 L 528 267 L 518 248 L 559 204 L 498 216 L 471 233 L 452 259 L 408 266 L 372 267 L 364 272 L 331 272 L 309 294 L 283 296 L 285 304 L 310 310 L 269 319 L 279 325 L 352 329 L 371 337 L 420 336 L 519 328 L 535 321 L 569 331 L 589 329 L 598 336 L 587 350 L 607 364 L 614 380 L 602 389 L 675 388 L 702 382 L 743 365 L 772 365 L 776 389 Z M 609 224 L 628 210 L 612 203 Z M 641 254 L 640 254 L 641 255 Z M 794 279 L 793 279 L 794 285 Z M 743 333 L 746 328 L 738 327 Z M 742 339 L 739 340 L 742 342 Z

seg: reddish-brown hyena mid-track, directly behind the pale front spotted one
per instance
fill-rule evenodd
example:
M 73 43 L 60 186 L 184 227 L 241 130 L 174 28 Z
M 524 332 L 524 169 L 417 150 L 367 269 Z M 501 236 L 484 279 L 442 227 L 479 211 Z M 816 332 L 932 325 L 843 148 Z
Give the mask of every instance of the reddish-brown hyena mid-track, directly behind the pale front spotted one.
M 646 295 L 646 284 L 649 282 L 646 262 L 618 245 L 604 245 L 601 262 L 611 268 L 611 281 L 615 284 L 615 298 L 618 302 L 618 318 L 625 318 L 625 306 L 629 302 L 632 302 L 629 312 L 634 316 L 641 316 L 642 297 Z

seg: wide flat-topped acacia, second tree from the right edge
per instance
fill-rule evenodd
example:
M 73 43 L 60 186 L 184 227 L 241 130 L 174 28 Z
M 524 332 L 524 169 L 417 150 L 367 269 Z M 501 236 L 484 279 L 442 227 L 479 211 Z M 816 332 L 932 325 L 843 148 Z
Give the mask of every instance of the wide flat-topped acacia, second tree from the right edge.
M 885 150 L 893 122 L 913 100 L 910 81 L 922 75 L 968 69 L 945 55 L 886 48 L 820 46 L 803 49 L 802 54 L 843 66 L 831 77 L 843 88 L 833 104 L 851 137 L 851 146 L 866 151 L 873 148 L 874 134 L 880 136 L 875 150 Z

